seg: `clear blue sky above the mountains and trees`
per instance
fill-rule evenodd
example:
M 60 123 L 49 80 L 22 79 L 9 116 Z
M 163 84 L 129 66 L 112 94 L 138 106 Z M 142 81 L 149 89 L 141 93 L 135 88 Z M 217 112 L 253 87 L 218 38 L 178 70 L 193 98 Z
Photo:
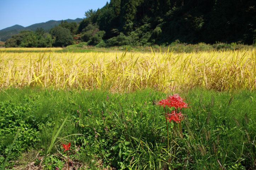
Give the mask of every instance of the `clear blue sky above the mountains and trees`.
M 0 30 L 29 26 L 49 20 L 84 18 L 85 11 L 97 10 L 109 0 L 0 0 Z

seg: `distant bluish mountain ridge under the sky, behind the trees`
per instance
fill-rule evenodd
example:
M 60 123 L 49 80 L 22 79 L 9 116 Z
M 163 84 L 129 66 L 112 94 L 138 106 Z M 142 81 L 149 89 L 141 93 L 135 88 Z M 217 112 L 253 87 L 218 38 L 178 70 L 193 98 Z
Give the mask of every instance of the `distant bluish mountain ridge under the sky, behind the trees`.
M 82 18 L 76 18 L 76 19 L 66 19 L 63 21 L 67 21 L 68 23 L 71 22 L 76 22 L 79 23 Z M 1 41 L 6 41 L 9 38 L 11 38 L 12 35 L 18 34 L 21 31 L 35 31 L 37 28 L 42 28 L 45 31 L 49 31 L 51 28 L 53 28 L 56 25 L 59 25 L 61 23 L 61 20 L 56 21 L 56 20 L 50 20 L 45 23 L 37 23 L 33 24 L 27 27 L 21 26 L 21 25 L 13 25 L 8 28 L 0 30 L 0 37 Z

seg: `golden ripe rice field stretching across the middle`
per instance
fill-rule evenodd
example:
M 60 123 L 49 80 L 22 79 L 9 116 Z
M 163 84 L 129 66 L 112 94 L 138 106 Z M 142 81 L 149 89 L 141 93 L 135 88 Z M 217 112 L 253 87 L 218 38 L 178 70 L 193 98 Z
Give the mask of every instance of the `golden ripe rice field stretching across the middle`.
M 61 48 L 0 49 L 0 86 L 86 90 L 255 90 L 256 49 L 197 53 L 57 53 Z M 40 52 L 8 52 L 41 50 Z

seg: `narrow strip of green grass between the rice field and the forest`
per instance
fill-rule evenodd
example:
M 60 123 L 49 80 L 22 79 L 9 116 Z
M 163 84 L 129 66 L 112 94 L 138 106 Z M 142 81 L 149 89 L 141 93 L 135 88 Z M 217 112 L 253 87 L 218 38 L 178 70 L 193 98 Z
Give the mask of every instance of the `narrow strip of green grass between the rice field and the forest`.
M 92 51 L 125 51 L 128 49 L 128 51 L 134 51 L 134 52 L 149 52 L 151 53 L 151 49 L 153 51 L 159 52 L 159 51 L 167 51 L 168 49 L 170 51 L 174 51 L 175 53 L 178 52 L 186 52 L 186 53 L 192 53 L 192 52 L 198 52 L 198 51 L 214 51 L 214 50 L 241 50 L 241 49 L 252 49 L 255 48 L 255 44 L 253 45 L 244 45 L 240 43 L 221 43 L 216 42 L 216 44 L 206 44 L 206 43 L 198 43 L 198 44 L 186 44 L 186 43 L 180 43 L 179 41 L 175 41 L 171 44 L 167 45 L 151 45 L 150 46 L 130 46 L 130 45 L 123 45 L 118 47 L 96 47 L 96 46 L 87 46 L 86 42 L 81 42 L 79 44 L 73 44 L 68 45 L 66 48 L 63 48 L 62 50 L 55 50 L 55 52 L 58 53 L 65 53 L 65 52 L 73 52 L 73 53 L 87 53 Z M 34 52 L 34 53 L 40 53 L 40 52 L 50 52 L 50 49 L 48 50 L 2 50 L 9 53 L 24 53 L 24 52 Z

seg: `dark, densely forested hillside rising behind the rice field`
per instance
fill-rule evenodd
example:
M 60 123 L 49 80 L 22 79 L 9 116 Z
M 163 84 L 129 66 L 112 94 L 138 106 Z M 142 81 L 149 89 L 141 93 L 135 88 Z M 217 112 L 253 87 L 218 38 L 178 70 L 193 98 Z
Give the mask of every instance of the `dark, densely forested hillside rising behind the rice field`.
M 255 44 L 255 7 L 255 0 L 110 0 L 101 9 L 86 11 L 78 25 L 62 22 L 64 29 L 55 27 L 47 46 Z

